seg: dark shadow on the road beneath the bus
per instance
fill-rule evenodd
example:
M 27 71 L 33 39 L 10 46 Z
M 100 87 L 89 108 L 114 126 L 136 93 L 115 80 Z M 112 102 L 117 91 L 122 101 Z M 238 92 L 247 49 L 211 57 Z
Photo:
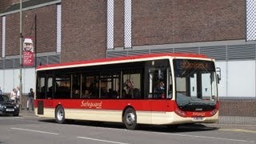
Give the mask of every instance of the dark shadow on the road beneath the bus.
M 56 123 L 54 120 L 40 120 L 40 122 L 50 122 Z M 57 123 L 56 123 L 57 124 Z M 66 122 L 68 125 L 76 126 L 93 126 L 101 128 L 111 128 L 111 129 L 126 129 L 123 123 L 121 122 L 94 122 L 94 121 L 80 121 L 80 120 L 68 120 Z M 138 129 L 142 131 L 152 131 L 152 132 L 165 132 L 165 133 L 185 133 L 193 131 L 210 131 L 210 130 L 219 130 L 218 126 L 206 126 L 203 124 L 183 124 L 177 128 L 168 128 L 167 126 L 155 126 L 155 125 L 139 125 Z

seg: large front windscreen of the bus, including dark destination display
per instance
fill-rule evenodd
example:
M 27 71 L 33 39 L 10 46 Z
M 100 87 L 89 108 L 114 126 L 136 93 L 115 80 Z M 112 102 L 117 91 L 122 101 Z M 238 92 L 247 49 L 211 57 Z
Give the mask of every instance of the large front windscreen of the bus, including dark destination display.
M 176 101 L 182 110 L 213 110 L 217 81 L 212 61 L 174 59 Z

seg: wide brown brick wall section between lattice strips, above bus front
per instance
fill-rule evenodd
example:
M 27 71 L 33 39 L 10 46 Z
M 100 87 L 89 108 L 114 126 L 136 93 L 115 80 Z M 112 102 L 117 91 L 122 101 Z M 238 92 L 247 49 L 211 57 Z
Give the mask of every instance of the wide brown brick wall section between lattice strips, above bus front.
M 132 1 L 133 45 L 246 38 L 246 2 Z

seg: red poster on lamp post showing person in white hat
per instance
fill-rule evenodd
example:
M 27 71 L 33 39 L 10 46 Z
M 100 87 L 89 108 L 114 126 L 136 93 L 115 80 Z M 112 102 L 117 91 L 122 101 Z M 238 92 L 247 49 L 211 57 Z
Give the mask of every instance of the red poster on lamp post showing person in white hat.
M 31 38 L 25 38 L 23 42 L 23 66 L 34 65 L 34 46 Z

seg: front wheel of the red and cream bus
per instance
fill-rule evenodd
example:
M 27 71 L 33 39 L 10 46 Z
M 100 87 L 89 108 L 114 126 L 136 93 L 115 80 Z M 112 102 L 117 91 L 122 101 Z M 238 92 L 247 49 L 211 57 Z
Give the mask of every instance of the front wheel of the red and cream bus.
M 128 108 L 122 117 L 122 122 L 124 122 L 126 129 L 135 130 L 138 126 L 137 115 L 133 108 Z

